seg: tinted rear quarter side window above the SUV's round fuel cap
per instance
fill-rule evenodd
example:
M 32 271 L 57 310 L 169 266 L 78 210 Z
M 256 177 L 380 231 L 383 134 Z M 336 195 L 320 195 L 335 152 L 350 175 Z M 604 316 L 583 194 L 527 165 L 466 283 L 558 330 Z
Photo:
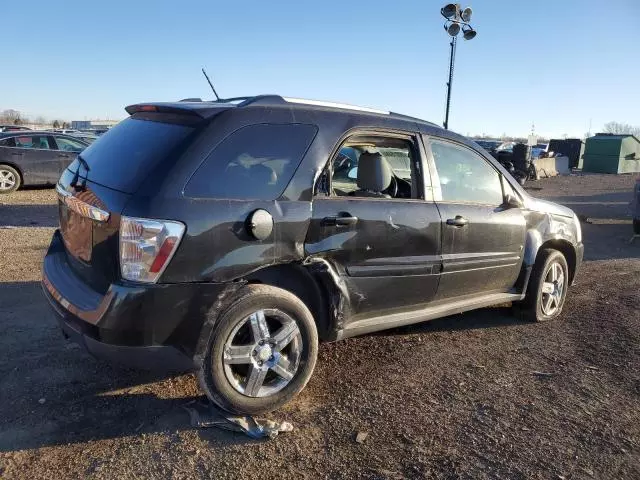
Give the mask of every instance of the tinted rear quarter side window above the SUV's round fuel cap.
M 303 124 L 240 128 L 204 160 L 189 180 L 185 195 L 274 200 L 289 184 L 317 131 L 315 125 Z

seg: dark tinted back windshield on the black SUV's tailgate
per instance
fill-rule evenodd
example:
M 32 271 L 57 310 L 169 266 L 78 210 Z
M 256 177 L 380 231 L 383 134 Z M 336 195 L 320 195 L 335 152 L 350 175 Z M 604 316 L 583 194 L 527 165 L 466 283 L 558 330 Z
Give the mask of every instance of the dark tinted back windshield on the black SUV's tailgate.
M 172 154 L 194 131 L 175 115 L 136 114 L 100 136 L 80 155 L 89 165 L 87 178 L 106 187 L 134 193 L 151 169 Z M 73 166 L 77 168 L 78 162 Z M 74 168 L 74 169 L 75 169 Z M 85 175 L 85 170 L 81 169 Z

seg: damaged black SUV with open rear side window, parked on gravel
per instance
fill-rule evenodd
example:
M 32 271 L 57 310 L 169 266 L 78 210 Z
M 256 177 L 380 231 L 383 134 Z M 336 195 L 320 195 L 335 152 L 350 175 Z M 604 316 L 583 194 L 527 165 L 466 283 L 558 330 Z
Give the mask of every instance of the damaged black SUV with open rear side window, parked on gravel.
M 415 118 L 262 95 L 133 105 L 57 185 L 43 287 L 98 357 L 197 372 L 240 413 L 300 392 L 318 340 L 505 302 L 558 316 L 580 223 Z

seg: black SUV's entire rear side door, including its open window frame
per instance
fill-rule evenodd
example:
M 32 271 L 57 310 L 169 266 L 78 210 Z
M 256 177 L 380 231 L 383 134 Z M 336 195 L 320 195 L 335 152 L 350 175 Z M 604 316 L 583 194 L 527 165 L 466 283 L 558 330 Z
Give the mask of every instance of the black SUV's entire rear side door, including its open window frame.
M 346 171 L 354 167 L 356 155 L 345 145 L 358 143 L 353 140 L 356 136 L 368 138 L 360 143 L 371 144 L 385 159 L 389 157 L 407 198 L 399 198 L 401 192 L 395 198 L 359 192 L 356 175 Z M 363 147 L 357 148 L 362 153 Z M 406 163 L 401 160 L 403 150 Z M 424 199 L 423 150 L 417 137 L 363 132 L 348 137 L 335 152 L 313 198 L 305 253 L 328 260 L 342 276 L 353 321 L 428 303 L 440 274 L 441 224 L 435 203 Z M 400 168 L 403 165 L 409 168 Z M 411 178 L 399 176 L 409 172 Z

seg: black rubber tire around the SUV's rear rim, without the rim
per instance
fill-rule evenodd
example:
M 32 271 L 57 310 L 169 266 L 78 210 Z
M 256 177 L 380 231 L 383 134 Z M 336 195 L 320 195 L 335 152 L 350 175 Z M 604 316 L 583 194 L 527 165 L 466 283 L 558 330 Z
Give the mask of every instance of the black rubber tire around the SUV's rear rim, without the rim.
M 298 368 L 281 390 L 264 397 L 244 395 L 231 385 L 223 361 L 225 344 L 237 325 L 258 310 L 277 309 L 295 320 L 302 337 Z M 254 350 L 255 353 L 255 350 Z M 318 356 L 318 332 L 313 315 L 298 297 L 270 285 L 247 285 L 219 317 L 198 370 L 200 386 L 219 407 L 235 414 L 257 415 L 276 410 L 302 391 L 311 378 Z M 250 367 L 248 367 L 250 368 Z

